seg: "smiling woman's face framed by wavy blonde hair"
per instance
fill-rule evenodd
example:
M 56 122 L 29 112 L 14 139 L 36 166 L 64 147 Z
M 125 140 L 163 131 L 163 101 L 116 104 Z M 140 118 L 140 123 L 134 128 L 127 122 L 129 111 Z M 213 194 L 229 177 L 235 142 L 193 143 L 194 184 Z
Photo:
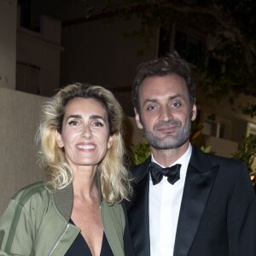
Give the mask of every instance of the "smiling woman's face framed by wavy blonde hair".
M 73 170 L 97 166 L 113 143 L 106 109 L 93 98 L 74 98 L 67 103 L 61 134 L 56 131 L 55 138 Z

